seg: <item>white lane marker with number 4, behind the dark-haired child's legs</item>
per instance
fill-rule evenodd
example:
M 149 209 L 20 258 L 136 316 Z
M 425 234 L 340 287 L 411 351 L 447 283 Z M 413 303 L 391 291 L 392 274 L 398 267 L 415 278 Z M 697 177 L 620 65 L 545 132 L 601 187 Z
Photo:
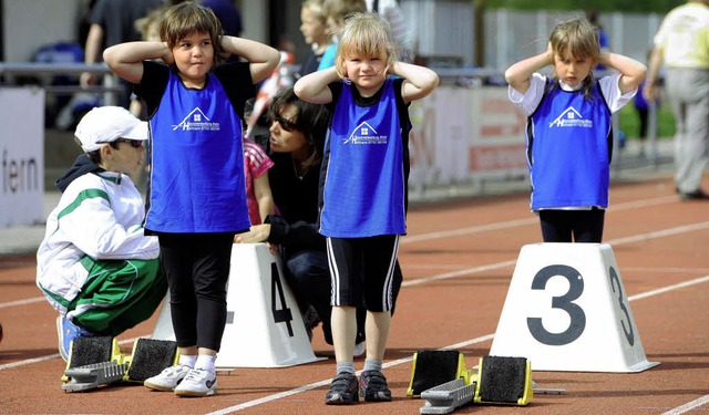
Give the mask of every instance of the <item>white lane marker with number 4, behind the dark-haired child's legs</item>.
M 153 339 L 175 340 L 168 299 Z M 321 360 L 312 353 L 280 259 L 266 243 L 234 243 L 226 302 L 217 367 L 285 367 Z

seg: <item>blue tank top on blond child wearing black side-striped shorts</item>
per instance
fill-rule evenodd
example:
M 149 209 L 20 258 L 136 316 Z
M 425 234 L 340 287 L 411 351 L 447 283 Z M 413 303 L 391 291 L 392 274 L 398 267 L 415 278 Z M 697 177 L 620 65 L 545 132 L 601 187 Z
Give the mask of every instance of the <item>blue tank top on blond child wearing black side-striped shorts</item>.
M 403 235 L 404 152 L 393 80 L 369 106 L 354 102 L 352 89 L 342 85 L 325 144 L 329 162 L 320 232 L 337 238 Z

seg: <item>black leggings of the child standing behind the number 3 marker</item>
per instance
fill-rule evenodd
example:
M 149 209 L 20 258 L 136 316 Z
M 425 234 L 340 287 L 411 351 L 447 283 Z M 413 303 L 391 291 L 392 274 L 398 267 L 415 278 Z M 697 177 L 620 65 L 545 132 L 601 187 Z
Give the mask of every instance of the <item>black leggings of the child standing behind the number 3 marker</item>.
M 600 243 L 606 211 L 590 210 L 540 210 L 542 238 L 545 242 L 595 242 Z

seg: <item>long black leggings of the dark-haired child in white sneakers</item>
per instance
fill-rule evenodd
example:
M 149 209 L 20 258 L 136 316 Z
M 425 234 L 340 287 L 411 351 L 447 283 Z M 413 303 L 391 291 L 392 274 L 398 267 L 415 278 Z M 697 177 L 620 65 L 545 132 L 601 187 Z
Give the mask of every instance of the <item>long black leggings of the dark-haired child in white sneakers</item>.
M 218 352 L 234 234 L 161 234 L 158 240 L 177 346 Z

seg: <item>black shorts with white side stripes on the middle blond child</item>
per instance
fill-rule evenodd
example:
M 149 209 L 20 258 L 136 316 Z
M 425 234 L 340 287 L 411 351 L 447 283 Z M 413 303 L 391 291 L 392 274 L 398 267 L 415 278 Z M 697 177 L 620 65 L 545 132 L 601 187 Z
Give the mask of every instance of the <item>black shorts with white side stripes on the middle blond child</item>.
M 327 238 L 332 305 L 391 311 L 399 236 Z

